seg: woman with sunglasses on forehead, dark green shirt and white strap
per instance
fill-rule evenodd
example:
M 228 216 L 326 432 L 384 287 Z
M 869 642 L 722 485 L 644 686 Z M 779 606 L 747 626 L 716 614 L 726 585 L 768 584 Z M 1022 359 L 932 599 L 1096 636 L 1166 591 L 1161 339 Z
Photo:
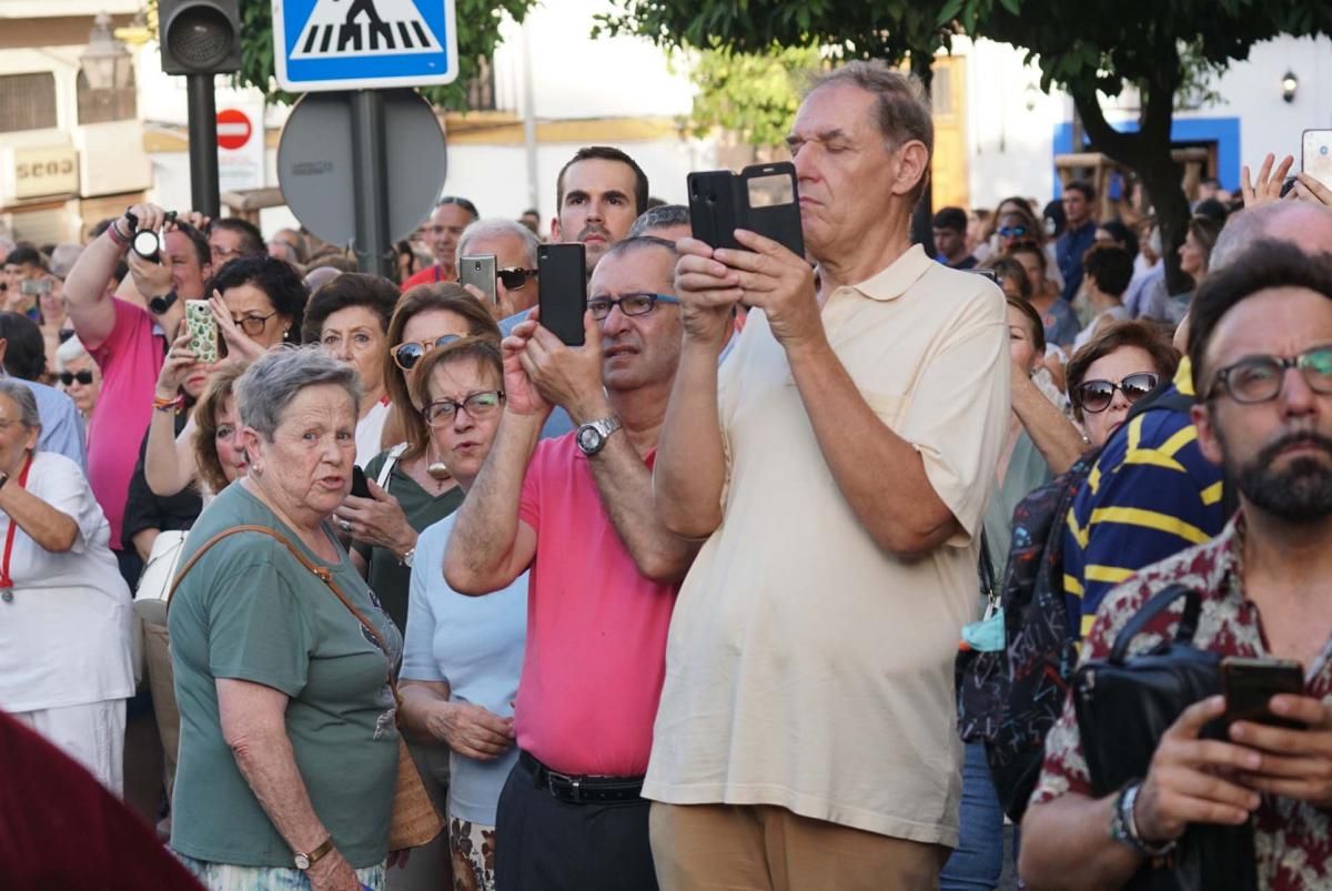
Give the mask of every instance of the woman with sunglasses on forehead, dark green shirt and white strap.
M 500 341 L 490 313 L 462 285 L 421 285 L 402 296 L 389 322 L 385 386 L 393 405 L 386 437 L 398 445 L 365 467 L 370 498 L 349 495 L 334 523 L 356 542 L 352 559 L 384 609 L 406 627 L 417 533 L 462 503 L 462 490 L 430 440 L 416 394 L 425 356 L 461 337 Z

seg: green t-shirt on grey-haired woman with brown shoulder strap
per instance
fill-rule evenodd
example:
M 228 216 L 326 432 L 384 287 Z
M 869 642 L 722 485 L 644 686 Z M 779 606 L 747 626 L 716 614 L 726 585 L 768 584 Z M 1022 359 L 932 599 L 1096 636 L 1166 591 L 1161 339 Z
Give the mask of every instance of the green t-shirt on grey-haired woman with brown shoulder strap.
M 240 533 L 209 549 L 176 590 L 168 621 L 181 717 L 172 847 L 214 863 L 292 866 L 292 848 L 222 738 L 216 679 L 233 678 L 290 697 L 286 735 L 314 812 L 352 866 L 377 864 L 388 855 L 397 776 L 388 678 L 402 637 L 345 553 L 338 563 L 318 559 L 241 483 L 200 515 L 182 561 L 217 533 L 245 523 L 277 530 L 332 570 L 377 625 L 389 655 L 281 542 Z

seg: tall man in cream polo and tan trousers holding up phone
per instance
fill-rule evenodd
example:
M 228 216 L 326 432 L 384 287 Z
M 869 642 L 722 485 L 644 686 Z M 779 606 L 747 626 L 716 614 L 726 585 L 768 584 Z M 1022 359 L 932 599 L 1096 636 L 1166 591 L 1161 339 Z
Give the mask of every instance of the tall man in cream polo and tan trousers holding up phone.
M 1003 294 L 910 244 L 932 125 L 900 75 L 832 72 L 789 143 L 817 277 L 753 233 L 679 242 L 655 501 L 707 541 L 671 619 L 653 856 L 663 891 L 932 888 L 1010 410 Z M 754 312 L 718 369 L 737 302 Z

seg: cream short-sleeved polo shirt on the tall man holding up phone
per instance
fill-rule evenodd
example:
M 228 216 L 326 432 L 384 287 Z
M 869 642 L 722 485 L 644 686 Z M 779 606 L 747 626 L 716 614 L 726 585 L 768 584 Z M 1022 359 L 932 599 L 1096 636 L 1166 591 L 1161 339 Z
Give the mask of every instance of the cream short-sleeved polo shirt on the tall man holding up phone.
M 911 442 L 963 533 L 882 551 L 819 451 L 786 353 L 751 312 L 719 376 L 722 525 L 685 579 L 643 787 L 958 843 L 952 662 L 1010 410 L 1004 300 L 919 246 L 822 309 L 838 358 Z M 882 482 L 894 498 L 892 479 Z

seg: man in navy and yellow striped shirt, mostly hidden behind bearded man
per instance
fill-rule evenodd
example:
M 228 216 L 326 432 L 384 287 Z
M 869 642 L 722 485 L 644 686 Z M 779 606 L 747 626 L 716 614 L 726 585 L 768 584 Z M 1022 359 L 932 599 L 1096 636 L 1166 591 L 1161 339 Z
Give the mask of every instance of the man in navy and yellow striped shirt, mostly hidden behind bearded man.
M 1212 252 L 1212 272 L 1261 238 L 1305 253 L 1332 250 L 1332 210 L 1273 201 L 1233 214 Z M 1175 336 L 1183 348 L 1187 322 Z M 1221 531 L 1235 507 L 1221 471 L 1203 455 L 1189 420 L 1192 368 L 1128 413 L 1074 498 L 1064 533 L 1064 595 L 1075 637 L 1091 627 L 1106 593 L 1136 570 Z

